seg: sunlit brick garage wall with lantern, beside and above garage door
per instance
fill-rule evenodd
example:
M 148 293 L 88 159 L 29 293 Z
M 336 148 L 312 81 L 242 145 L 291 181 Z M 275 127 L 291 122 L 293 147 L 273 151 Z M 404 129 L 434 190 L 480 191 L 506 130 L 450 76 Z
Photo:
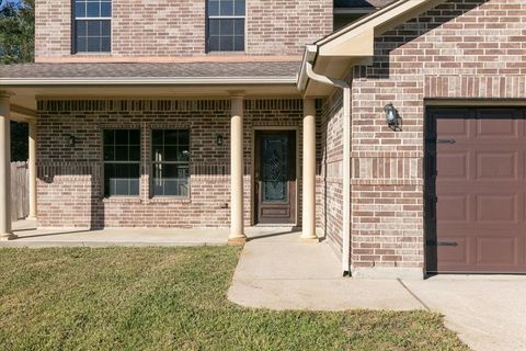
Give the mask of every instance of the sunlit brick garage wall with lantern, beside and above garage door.
M 456 0 L 376 39 L 354 69 L 352 264 L 424 267 L 425 99 L 526 98 L 526 3 Z M 390 131 L 393 103 L 402 132 Z

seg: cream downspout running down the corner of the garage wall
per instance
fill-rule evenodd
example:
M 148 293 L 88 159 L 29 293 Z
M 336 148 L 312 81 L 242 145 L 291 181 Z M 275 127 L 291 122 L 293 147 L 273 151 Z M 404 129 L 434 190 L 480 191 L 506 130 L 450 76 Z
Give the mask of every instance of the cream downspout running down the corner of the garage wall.
M 340 79 L 318 75 L 312 69 L 313 55 L 306 60 L 306 73 L 312 80 L 343 90 L 343 248 L 342 272 L 351 275 L 351 86 Z

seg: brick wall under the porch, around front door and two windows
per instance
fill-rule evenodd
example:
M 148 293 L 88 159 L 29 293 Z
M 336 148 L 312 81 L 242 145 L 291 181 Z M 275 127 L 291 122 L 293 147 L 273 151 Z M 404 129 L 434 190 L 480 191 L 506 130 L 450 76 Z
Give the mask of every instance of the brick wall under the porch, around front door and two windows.
M 245 225 L 251 225 L 253 131 L 297 128 L 301 100 L 244 102 Z M 227 227 L 230 210 L 230 102 L 38 101 L 38 220 L 42 227 Z M 141 128 L 141 192 L 135 199 L 102 196 L 102 129 Z M 156 127 L 191 129 L 188 199 L 149 195 L 150 133 Z M 216 135 L 225 143 L 217 146 Z M 77 138 L 69 146 L 69 136 Z M 301 158 L 301 147 L 299 147 Z M 300 159 L 301 162 L 301 159 Z M 300 163 L 301 165 L 301 163 Z M 300 173 L 300 172 L 299 172 Z M 298 194 L 301 178 L 298 177 Z M 300 199 L 298 208 L 301 208 Z M 300 212 L 298 223 L 301 223 Z

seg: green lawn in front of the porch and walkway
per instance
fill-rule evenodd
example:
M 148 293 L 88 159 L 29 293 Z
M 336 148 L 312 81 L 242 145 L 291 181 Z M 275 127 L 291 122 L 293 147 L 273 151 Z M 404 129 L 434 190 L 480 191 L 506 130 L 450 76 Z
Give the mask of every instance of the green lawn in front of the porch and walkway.
M 239 252 L 1 249 L 0 350 L 467 350 L 426 312 L 237 306 Z

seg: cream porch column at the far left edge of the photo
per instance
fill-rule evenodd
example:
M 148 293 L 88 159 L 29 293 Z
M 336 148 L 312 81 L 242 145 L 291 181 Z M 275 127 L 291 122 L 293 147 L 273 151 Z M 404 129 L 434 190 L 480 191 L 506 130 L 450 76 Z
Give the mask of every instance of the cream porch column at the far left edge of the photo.
M 11 229 L 11 136 L 9 93 L 0 91 L 0 240 L 15 238 Z

